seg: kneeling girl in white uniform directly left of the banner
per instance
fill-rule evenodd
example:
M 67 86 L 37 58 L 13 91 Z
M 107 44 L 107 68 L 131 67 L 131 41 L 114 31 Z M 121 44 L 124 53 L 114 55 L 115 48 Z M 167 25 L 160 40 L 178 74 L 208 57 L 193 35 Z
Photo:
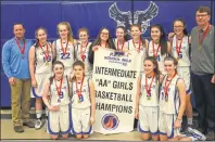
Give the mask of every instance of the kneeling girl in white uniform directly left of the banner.
M 72 133 L 77 139 L 88 138 L 92 132 L 96 112 L 94 86 L 85 77 L 85 64 L 77 61 L 73 64 L 72 81 Z

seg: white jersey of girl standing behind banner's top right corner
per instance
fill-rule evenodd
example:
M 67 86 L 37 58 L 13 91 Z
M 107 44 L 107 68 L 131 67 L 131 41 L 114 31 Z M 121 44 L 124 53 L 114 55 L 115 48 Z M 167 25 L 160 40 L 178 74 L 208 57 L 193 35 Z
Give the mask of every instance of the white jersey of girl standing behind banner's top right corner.
M 135 43 L 132 42 L 132 39 L 128 40 L 128 50 L 139 50 L 139 42 Z M 140 46 L 140 53 L 142 54 L 143 60 L 147 56 L 147 52 L 146 52 L 146 47 L 143 47 L 143 44 Z

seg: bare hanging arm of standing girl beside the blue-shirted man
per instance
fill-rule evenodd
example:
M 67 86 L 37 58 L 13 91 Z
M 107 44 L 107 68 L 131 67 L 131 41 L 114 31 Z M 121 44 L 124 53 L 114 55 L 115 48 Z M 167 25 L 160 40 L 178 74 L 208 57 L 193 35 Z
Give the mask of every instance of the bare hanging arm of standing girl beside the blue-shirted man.
M 29 72 L 30 72 L 30 78 L 31 78 L 31 86 L 37 87 L 37 81 L 35 78 L 35 47 L 34 46 L 29 50 L 28 60 L 29 60 Z

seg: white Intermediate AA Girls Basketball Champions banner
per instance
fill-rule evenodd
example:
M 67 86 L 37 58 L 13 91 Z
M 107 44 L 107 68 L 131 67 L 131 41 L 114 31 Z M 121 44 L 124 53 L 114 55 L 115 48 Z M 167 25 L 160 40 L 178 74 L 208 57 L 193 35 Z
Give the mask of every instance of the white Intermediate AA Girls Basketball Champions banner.
M 96 132 L 109 134 L 134 130 L 142 56 L 136 51 L 125 54 L 104 48 L 94 52 Z

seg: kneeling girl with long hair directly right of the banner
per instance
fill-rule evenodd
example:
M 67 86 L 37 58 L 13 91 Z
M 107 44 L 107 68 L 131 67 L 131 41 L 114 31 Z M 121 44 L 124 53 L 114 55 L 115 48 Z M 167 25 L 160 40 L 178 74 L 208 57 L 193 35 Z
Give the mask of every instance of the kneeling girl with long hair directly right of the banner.
M 152 140 L 159 140 L 159 87 L 163 75 L 153 56 L 144 60 L 144 73 L 138 78 L 136 95 L 136 118 L 139 117 L 138 131 L 147 141 L 152 134 Z

